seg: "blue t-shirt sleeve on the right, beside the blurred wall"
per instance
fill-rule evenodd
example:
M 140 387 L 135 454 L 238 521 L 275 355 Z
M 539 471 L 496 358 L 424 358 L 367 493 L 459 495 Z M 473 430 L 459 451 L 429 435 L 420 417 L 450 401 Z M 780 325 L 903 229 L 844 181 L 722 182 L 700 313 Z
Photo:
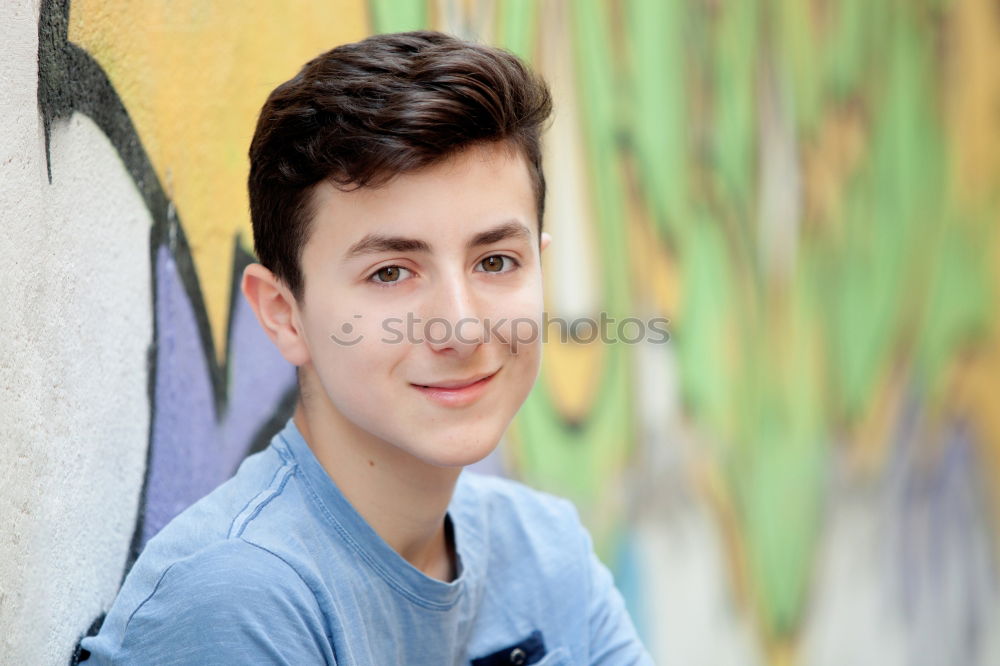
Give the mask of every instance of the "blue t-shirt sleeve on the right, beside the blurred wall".
M 580 529 L 587 562 L 590 663 L 606 666 L 652 664 L 653 659 L 639 639 L 632 618 L 625 608 L 625 600 L 615 587 L 611 571 L 594 552 L 593 541 L 586 527 L 581 524 Z

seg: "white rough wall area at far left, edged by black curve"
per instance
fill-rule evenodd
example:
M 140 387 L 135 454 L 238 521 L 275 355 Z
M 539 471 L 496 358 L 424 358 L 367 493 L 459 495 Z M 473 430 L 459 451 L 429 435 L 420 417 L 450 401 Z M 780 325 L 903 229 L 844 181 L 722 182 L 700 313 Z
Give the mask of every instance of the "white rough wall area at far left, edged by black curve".
M 7 6 L 0 34 L 0 653 L 66 663 L 114 598 L 140 512 L 153 221 L 87 116 L 53 127 L 46 163 L 37 8 Z

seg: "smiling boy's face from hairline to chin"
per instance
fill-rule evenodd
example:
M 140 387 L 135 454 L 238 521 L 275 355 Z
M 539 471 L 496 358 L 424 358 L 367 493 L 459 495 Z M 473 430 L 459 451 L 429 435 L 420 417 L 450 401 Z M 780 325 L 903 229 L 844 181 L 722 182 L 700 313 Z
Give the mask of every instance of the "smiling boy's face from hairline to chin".
M 379 188 L 319 185 L 294 310 L 307 412 L 433 465 L 485 457 L 538 374 L 539 240 L 527 164 L 506 146 Z

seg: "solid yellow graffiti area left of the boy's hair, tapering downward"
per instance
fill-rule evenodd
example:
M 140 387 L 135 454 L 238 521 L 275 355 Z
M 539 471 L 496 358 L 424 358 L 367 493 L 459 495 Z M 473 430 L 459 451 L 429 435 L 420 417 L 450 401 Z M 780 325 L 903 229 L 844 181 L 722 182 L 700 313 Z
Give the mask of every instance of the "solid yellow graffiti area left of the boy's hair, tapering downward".
M 368 33 L 362 0 L 74 0 L 69 39 L 104 69 L 183 224 L 217 358 L 235 238 L 251 249 L 247 148 L 267 94 Z

